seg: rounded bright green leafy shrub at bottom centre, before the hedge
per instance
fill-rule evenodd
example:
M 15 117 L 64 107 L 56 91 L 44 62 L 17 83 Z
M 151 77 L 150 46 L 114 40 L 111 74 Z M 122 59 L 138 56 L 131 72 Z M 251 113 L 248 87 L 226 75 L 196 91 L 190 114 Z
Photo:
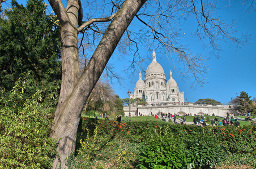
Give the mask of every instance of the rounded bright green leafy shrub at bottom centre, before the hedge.
M 140 150 L 139 168 L 184 168 L 190 158 L 184 143 L 174 137 L 155 137 Z

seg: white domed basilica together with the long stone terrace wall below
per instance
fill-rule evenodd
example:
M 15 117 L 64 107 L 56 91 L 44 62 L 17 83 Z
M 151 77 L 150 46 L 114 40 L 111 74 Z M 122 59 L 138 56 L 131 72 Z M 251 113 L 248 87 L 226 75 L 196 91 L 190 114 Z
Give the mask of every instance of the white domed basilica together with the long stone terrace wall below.
M 192 114 L 192 115 L 220 115 L 225 116 L 232 112 L 228 105 L 205 105 L 185 103 L 184 92 L 180 92 L 176 81 L 173 79 L 172 71 L 170 78 L 164 73 L 162 66 L 156 61 L 156 53 L 153 51 L 152 63 L 148 65 L 144 81 L 139 73 L 139 80 L 136 82 L 134 94 L 130 99 L 141 98 L 147 101 L 148 105 L 130 105 L 131 117 L 142 114 L 151 115 L 159 112 L 170 114 Z M 129 116 L 129 106 L 123 108 L 125 116 Z

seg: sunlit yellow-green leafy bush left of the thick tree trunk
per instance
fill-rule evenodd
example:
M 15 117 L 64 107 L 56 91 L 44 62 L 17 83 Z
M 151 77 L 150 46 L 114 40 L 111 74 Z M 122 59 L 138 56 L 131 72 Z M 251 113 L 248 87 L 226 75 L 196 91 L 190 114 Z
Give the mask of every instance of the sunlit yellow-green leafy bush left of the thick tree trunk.
M 11 92 L 2 91 L 0 168 L 52 167 L 56 140 L 50 137 L 55 112 L 51 102 L 57 103 L 58 94 L 46 86 L 28 96 L 29 87 L 21 77 Z

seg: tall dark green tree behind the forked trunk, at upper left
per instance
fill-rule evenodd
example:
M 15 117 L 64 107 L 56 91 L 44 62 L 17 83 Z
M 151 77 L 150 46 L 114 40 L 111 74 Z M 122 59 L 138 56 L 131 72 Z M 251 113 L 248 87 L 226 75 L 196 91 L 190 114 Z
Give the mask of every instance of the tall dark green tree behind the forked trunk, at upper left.
M 29 0 L 25 7 L 12 0 L 11 6 L 0 18 L 0 86 L 10 91 L 24 72 L 35 81 L 61 79 L 57 17 L 46 15 L 42 0 Z

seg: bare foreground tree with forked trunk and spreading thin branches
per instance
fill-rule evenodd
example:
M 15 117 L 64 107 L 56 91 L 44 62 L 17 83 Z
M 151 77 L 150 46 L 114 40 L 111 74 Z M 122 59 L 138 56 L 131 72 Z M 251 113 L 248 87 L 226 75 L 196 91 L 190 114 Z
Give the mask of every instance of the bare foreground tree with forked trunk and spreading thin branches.
M 193 84 L 200 85 L 207 70 L 204 57 L 192 55 L 193 52 L 177 40 L 187 17 L 194 16 L 198 24 L 195 35 L 204 46 L 212 48 L 214 55 L 223 41 L 239 46 L 247 40 L 244 36 L 232 37 L 232 25 L 223 23 L 215 15 L 217 3 L 212 1 L 86 1 L 86 11 L 82 10 L 80 0 L 67 0 L 66 9 L 61 0 L 49 2 L 61 25 L 62 59 L 61 93 L 52 127 L 52 137 L 59 140 L 59 156 L 53 168 L 65 168 L 67 158 L 74 152 L 80 114 L 116 47 L 122 49 L 120 55 L 134 54 L 130 68 L 142 61 L 138 52 L 141 44 L 147 48 L 156 46 L 170 52 L 172 57 L 176 54 L 173 61 L 184 63 L 180 72 L 185 77 L 195 77 Z M 129 27 L 133 20 L 136 26 Z M 139 27 L 139 23 L 142 26 Z M 96 47 L 81 75 L 78 34 Z

